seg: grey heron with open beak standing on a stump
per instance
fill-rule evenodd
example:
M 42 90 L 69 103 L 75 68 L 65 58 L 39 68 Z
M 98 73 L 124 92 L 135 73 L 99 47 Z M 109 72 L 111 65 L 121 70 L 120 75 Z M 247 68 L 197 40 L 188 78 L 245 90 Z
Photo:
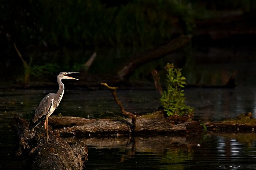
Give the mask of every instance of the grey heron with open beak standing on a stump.
M 61 82 L 62 79 L 75 79 L 67 76 L 68 74 L 73 74 L 78 72 L 60 72 L 57 76 L 57 82 L 59 84 L 59 90 L 56 93 L 49 93 L 46 95 L 41 102 L 35 108 L 32 119 L 30 120 L 29 129 L 34 130 L 34 128 L 40 124 L 43 120 L 44 127 L 47 135 L 47 143 L 51 141 L 48 135 L 48 118 L 54 112 L 54 110 L 59 106 L 60 100 L 64 94 L 64 84 Z

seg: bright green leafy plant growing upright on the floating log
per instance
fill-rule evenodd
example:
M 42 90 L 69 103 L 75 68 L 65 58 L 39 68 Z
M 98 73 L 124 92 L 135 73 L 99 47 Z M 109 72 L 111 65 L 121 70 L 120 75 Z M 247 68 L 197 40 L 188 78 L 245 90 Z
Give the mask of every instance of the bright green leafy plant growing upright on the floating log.
M 167 64 L 166 91 L 161 96 L 161 104 L 168 116 L 193 116 L 193 108 L 185 104 L 184 84 L 185 77 L 181 76 L 181 69 L 174 68 L 174 64 Z

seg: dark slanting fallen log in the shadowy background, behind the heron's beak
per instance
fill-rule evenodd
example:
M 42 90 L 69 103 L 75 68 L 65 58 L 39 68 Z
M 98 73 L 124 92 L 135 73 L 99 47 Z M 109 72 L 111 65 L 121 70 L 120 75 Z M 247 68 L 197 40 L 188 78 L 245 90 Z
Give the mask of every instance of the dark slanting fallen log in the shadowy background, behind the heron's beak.
M 112 85 L 120 83 L 127 79 L 132 74 L 132 72 L 139 66 L 171 54 L 175 50 L 188 44 L 191 39 L 191 35 L 180 36 L 151 50 L 133 55 L 129 57 L 128 60 L 126 60 L 118 68 L 107 74 L 99 74 L 95 76 L 87 74 L 85 71 L 81 71 L 81 76 L 79 77 L 80 81 L 74 84 L 76 86 L 87 85 L 88 87 L 97 87 L 101 82 L 107 82 Z

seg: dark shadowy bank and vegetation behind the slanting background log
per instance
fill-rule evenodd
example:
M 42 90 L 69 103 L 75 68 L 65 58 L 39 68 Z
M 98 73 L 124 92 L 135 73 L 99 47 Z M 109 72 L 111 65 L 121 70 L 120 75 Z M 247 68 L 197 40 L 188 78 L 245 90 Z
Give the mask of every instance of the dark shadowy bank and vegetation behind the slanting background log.
M 42 76 L 55 81 L 60 71 L 81 71 L 95 51 L 89 73 L 105 73 L 129 56 L 191 34 L 191 43 L 179 53 L 146 65 L 150 69 L 141 68 L 133 77 L 143 80 L 150 70 L 172 62 L 184 68 L 190 84 L 225 84 L 223 73 L 216 73 L 217 83 L 205 82 L 201 73 L 209 77 L 227 68 L 226 77 L 253 74 L 247 69 L 253 65 L 246 63 L 255 62 L 255 9 L 254 0 L 1 0 L 0 74 L 9 84 L 24 83 L 25 74 L 34 81 Z M 216 63 L 227 65 L 206 66 Z

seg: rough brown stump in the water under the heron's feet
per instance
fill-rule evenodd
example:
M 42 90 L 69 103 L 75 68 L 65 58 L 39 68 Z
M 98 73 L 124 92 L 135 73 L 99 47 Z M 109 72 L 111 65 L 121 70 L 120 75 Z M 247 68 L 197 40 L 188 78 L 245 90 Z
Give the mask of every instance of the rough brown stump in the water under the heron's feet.
M 29 131 L 29 123 L 18 116 L 14 116 L 11 124 L 18 141 L 16 155 L 24 158 L 26 169 L 83 169 L 87 160 L 87 147 L 83 142 L 70 146 L 55 131 L 54 134 L 49 133 L 53 142 L 47 143 L 42 126 Z

